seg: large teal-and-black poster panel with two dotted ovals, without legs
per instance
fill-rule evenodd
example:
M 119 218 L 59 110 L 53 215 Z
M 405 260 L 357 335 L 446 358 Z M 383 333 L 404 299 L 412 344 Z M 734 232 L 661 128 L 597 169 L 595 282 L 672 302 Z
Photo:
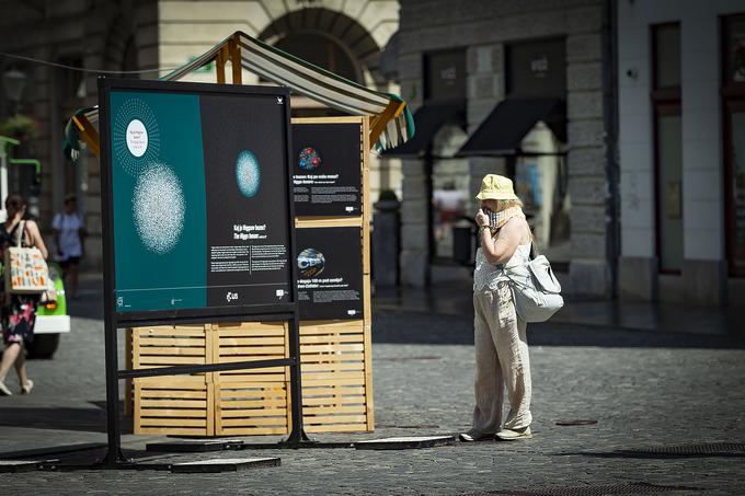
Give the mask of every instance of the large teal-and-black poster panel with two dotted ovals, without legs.
M 291 303 L 286 91 L 108 80 L 102 101 L 117 319 Z

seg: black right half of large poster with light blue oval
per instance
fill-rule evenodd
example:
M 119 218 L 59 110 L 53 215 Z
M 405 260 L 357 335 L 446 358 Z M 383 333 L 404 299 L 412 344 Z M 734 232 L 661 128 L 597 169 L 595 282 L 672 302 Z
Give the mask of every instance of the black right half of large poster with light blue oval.
M 207 304 L 287 302 L 284 105 L 202 97 L 207 194 Z

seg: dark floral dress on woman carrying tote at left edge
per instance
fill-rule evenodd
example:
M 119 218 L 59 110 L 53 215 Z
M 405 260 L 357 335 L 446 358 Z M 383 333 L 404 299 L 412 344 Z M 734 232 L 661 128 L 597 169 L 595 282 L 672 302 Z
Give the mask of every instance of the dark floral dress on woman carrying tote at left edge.
M 0 230 L 0 261 L 5 259 L 5 249 L 15 245 L 19 222 L 11 232 Z M 22 237 L 23 246 L 27 246 L 27 235 Z M 36 323 L 36 309 L 38 308 L 38 295 L 10 295 L 5 292 L 4 274 L 0 279 L 0 320 L 2 321 L 2 337 L 7 345 L 11 343 L 31 343 L 34 338 L 34 324 Z

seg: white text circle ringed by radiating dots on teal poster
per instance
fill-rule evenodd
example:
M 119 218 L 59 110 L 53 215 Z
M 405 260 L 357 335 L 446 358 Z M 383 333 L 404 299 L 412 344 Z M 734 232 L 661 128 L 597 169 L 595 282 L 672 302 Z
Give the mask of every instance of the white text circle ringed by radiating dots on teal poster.
M 127 100 L 118 108 L 112 135 L 114 155 L 127 174 L 136 176 L 158 160 L 160 128 L 154 114 L 141 100 Z

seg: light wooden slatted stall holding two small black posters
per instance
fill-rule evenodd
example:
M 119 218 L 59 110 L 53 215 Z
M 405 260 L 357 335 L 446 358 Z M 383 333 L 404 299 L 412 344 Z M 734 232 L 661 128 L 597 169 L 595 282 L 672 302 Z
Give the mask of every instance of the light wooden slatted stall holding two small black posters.
M 293 119 L 289 158 L 297 242 L 290 263 L 298 285 L 302 424 L 307 432 L 374 429 L 368 126 L 367 117 Z M 305 194 L 298 192 L 298 185 L 303 184 L 298 177 L 308 176 L 307 161 L 313 158 L 320 159 L 313 181 L 336 176 L 332 178 L 339 180 L 334 187 L 355 188 L 354 201 L 317 198 L 313 204 L 298 198 Z M 332 195 L 355 196 L 352 193 L 335 191 Z M 303 203 L 308 209 L 300 215 Z M 346 210 L 355 205 L 356 210 Z M 317 207 L 320 210 L 313 210 Z M 131 330 L 127 345 L 133 369 L 279 360 L 290 356 L 289 331 L 280 322 L 138 326 Z M 289 385 L 288 370 L 283 367 L 135 379 L 135 432 L 287 434 L 293 430 Z

